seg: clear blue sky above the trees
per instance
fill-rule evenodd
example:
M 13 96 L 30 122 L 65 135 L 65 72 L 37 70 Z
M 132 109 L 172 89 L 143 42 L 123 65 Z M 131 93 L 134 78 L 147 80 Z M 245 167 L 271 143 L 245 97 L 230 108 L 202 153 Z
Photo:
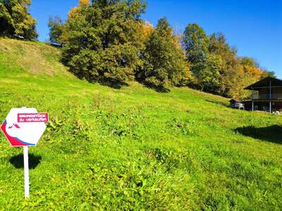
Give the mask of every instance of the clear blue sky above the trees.
M 78 0 L 33 0 L 39 40 L 48 39 L 51 15 L 66 18 Z M 282 0 L 147 0 L 143 18 L 153 25 L 166 16 L 178 32 L 198 23 L 207 34 L 223 32 L 238 56 L 250 56 L 282 78 Z

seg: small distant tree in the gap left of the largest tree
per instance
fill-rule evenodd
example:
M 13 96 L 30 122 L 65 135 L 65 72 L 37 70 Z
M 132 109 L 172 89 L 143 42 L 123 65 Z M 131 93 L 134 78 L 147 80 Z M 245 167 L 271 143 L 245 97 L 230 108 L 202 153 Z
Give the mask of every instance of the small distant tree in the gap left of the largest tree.
M 49 39 L 51 43 L 54 44 L 63 44 L 63 31 L 65 30 L 65 25 L 63 23 L 63 20 L 60 16 L 56 15 L 54 18 L 49 18 Z

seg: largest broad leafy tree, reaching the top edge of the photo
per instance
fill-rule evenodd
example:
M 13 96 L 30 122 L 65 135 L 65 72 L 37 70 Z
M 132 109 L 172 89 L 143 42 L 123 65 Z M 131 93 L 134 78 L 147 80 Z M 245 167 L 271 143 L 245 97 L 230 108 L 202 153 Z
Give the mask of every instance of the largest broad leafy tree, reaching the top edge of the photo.
M 139 0 L 94 0 L 80 4 L 66 21 L 63 60 L 78 77 L 106 82 L 134 78 L 139 63 L 137 31 L 145 4 Z

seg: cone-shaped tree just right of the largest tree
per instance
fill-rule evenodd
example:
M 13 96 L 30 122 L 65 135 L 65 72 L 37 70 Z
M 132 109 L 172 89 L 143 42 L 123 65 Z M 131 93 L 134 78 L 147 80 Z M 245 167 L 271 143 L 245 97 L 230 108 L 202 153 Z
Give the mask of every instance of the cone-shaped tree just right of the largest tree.
M 142 60 L 142 67 L 136 73 L 137 79 L 149 86 L 168 88 L 183 84 L 190 78 L 185 53 L 166 18 L 159 20 L 145 42 Z

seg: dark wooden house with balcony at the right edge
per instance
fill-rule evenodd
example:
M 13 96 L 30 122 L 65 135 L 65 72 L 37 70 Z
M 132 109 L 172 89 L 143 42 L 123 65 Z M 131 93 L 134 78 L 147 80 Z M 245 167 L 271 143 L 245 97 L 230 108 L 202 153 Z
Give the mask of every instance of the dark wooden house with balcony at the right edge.
M 245 89 L 252 91 L 249 101 L 244 101 L 247 110 L 282 111 L 282 80 L 266 77 Z

